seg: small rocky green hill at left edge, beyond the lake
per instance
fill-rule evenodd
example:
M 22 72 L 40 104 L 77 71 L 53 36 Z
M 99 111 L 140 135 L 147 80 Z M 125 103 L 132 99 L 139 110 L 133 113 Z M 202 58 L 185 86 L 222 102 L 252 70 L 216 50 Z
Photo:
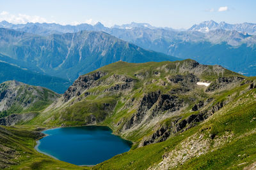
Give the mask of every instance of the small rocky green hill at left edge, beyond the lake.
M 0 118 L 11 113 L 43 110 L 58 97 L 59 94 L 43 87 L 26 85 L 15 80 L 5 81 L 0 84 Z

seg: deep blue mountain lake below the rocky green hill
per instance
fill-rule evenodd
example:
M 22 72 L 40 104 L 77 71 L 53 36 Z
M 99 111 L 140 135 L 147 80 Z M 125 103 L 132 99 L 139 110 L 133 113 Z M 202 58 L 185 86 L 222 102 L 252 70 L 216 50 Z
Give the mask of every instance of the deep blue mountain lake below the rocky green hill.
M 61 127 L 43 131 L 36 150 L 76 165 L 95 165 L 130 150 L 131 142 L 115 136 L 108 127 Z

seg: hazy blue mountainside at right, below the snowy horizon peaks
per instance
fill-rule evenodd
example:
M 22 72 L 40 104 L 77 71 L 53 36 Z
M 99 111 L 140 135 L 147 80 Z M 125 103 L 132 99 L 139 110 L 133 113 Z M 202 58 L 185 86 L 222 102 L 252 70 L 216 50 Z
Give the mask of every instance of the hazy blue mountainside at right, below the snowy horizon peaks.
M 256 36 L 249 34 L 221 29 L 205 34 L 141 28 L 116 29 L 110 34 L 145 49 L 195 59 L 202 64 L 218 64 L 247 76 L 256 75 Z

